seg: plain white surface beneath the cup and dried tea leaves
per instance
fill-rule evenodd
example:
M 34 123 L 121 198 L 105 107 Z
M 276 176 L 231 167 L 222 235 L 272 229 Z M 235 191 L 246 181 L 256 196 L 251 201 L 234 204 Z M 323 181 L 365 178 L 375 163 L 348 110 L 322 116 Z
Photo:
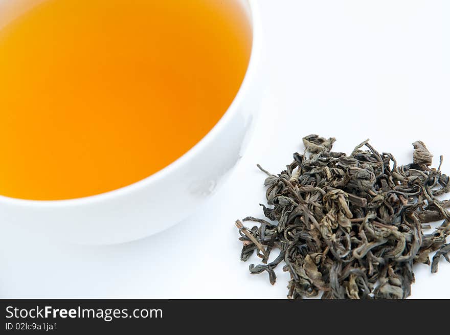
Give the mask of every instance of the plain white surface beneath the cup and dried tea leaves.
M 260 4 L 269 87 L 229 183 L 191 218 L 137 242 L 58 245 L 10 227 L 0 235 L 1 297 L 285 298 L 281 267 L 271 286 L 239 260 L 234 220 L 261 216 L 265 199 L 256 163 L 279 172 L 303 150 L 301 138 L 318 133 L 346 152 L 370 138 L 400 164 L 420 139 L 450 172 L 450 2 Z M 415 272 L 412 298 L 450 298 L 450 264 Z

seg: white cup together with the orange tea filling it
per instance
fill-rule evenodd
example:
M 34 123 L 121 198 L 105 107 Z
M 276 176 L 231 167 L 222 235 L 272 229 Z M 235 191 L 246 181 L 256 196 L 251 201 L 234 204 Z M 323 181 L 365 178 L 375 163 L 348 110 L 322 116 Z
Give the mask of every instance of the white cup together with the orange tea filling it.
M 48 0 L 0 21 L 0 219 L 124 242 L 192 213 L 241 157 L 261 92 L 258 16 L 252 1 L 142 2 L 152 20 L 124 0 L 85 4 L 84 20 L 79 1 Z

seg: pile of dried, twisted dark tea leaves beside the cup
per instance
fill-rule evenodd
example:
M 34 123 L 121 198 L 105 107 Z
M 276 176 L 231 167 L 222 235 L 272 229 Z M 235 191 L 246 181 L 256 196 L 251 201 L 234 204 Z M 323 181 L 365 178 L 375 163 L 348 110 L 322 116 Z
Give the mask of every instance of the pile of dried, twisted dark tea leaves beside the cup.
M 347 156 L 331 151 L 334 138 L 303 138 L 304 154 L 278 175 L 265 180 L 264 215 L 277 225 L 258 222 L 246 228 L 236 221 L 243 242 L 241 259 L 256 250 L 260 265 L 252 274 L 284 262 L 290 273 L 288 298 L 403 299 L 411 294 L 414 263 L 430 264 L 437 272 L 441 256 L 450 262 L 450 191 L 447 175 L 430 168 L 433 155 L 421 141 L 413 143 L 413 163 L 397 166 L 390 153 L 378 153 L 365 141 Z M 363 147 L 367 150 L 363 150 Z M 309 152 L 309 156 L 306 154 Z M 259 165 L 258 165 L 259 167 Z M 443 220 L 436 229 L 429 222 Z M 424 233 L 424 231 L 430 231 Z M 280 254 L 270 263 L 274 249 Z

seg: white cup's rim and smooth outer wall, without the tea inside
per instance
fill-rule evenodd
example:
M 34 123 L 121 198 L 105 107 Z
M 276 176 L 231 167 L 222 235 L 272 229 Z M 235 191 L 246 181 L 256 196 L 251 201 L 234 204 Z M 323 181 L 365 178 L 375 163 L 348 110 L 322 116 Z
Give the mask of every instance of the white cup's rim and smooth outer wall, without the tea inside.
M 7 1 L 0 0 L 0 5 Z M 52 239 L 112 244 L 161 232 L 193 213 L 241 157 L 259 109 L 262 32 L 258 5 L 257 0 L 241 2 L 253 31 L 249 66 L 233 103 L 205 138 L 159 172 L 114 191 L 54 201 L 0 196 L 2 234 L 8 234 L 9 225 L 20 225 Z

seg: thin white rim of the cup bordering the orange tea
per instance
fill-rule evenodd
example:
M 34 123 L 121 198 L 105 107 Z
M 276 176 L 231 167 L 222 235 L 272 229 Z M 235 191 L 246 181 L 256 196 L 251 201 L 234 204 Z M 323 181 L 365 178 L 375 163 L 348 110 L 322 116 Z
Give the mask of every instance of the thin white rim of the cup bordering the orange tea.
M 251 82 L 255 77 L 255 72 L 257 71 L 257 64 L 259 63 L 260 53 L 261 53 L 261 22 L 260 14 L 257 5 L 257 0 L 245 0 L 250 8 L 250 23 L 252 26 L 252 51 L 250 53 L 249 65 L 247 65 L 247 70 L 245 72 L 242 83 L 239 90 L 234 97 L 232 103 L 222 115 L 219 121 L 214 125 L 213 128 L 191 149 L 185 152 L 181 157 L 165 166 L 159 171 L 143 178 L 140 181 L 134 182 L 130 185 L 123 186 L 121 188 L 79 198 L 72 199 L 58 199 L 58 200 L 32 200 L 32 199 L 20 199 L 13 198 L 5 195 L 0 195 L 0 204 L 16 205 L 16 206 L 32 206 L 32 207 L 67 207 L 67 206 L 79 206 L 91 203 L 98 203 L 107 201 L 111 198 L 116 198 L 124 196 L 126 194 L 138 191 L 142 188 L 148 187 L 150 184 L 161 180 L 162 178 L 170 175 L 179 166 L 185 164 L 194 157 L 196 152 L 201 151 L 215 138 L 218 133 L 226 126 L 228 121 L 237 113 L 237 108 L 241 104 L 245 92 L 249 90 Z

